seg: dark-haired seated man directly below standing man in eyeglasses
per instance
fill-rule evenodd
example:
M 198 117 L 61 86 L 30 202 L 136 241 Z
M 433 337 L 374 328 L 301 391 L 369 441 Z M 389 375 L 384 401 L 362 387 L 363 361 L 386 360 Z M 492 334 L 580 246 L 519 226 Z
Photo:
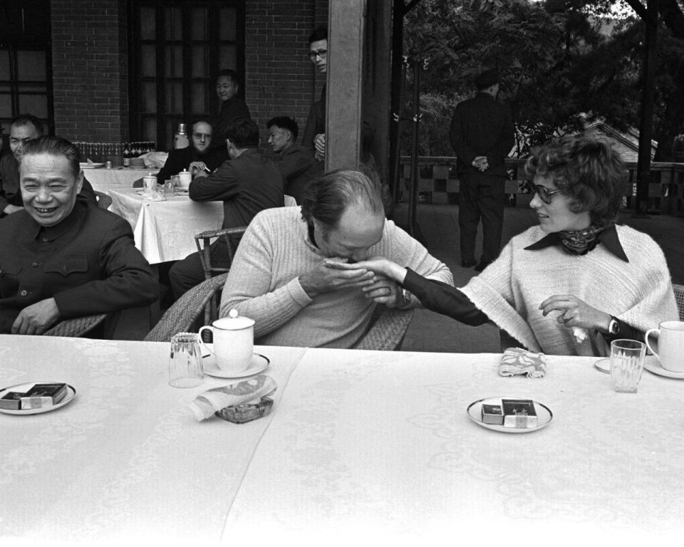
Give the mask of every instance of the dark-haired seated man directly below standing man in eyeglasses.
M 320 172 L 318 164 L 309 150 L 297 144 L 299 126 L 292 118 L 271 118 L 266 122 L 266 129 L 269 145 L 280 153 L 281 162 L 276 165 L 285 177 L 285 193 L 301 203 L 306 184 Z

